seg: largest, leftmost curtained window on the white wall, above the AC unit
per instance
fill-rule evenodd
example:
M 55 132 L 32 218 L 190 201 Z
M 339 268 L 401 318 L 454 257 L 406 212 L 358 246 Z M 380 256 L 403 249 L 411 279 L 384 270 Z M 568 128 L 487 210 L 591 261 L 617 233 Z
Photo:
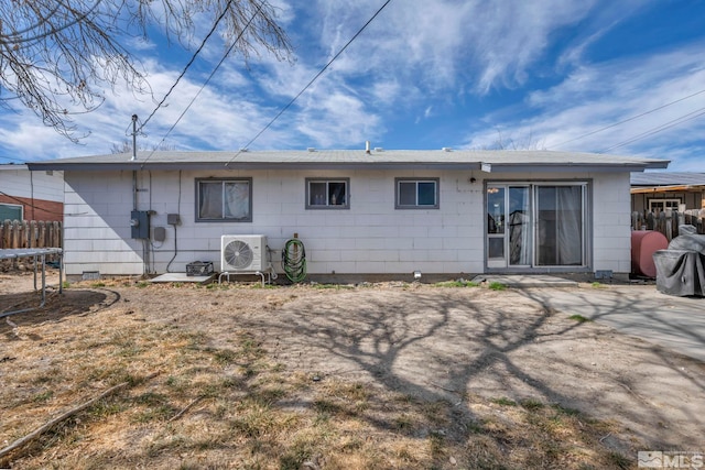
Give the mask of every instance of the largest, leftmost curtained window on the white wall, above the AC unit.
M 196 179 L 196 221 L 251 222 L 252 178 Z

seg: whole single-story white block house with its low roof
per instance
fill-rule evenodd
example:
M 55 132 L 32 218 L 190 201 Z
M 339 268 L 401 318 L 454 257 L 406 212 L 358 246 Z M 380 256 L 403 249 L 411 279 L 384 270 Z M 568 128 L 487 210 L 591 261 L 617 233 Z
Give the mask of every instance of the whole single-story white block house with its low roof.
M 629 175 L 668 161 L 543 151 L 140 152 L 30 163 L 66 183 L 66 274 L 220 270 L 221 236 L 297 233 L 310 275 L 628 275 Z

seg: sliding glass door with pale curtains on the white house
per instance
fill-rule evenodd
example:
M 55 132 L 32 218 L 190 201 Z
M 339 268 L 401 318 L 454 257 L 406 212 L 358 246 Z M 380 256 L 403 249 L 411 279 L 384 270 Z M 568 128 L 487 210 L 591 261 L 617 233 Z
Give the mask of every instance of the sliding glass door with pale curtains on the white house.
M 487 266 L 587 264 L 587 183 L 487 186 Z

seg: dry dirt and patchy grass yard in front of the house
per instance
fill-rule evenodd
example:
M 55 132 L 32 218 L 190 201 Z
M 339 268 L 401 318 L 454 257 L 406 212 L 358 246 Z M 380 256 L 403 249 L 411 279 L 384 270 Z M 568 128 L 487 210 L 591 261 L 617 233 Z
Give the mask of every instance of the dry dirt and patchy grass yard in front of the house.
M 52 289 L 0 319 L 0 448 L 69 413 L 0 467 L 604 469 L 705 450 L 705 364 L 496 287 Z M 0 274 L 0 311 L 36 303 L 31 276 Z

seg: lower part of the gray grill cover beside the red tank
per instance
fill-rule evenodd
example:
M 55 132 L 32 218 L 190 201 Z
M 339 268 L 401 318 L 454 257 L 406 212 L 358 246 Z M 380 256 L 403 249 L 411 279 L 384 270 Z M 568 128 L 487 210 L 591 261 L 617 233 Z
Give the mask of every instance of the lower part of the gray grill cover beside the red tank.
M 680 238 L 680 237 L 679 237 Z M 690 250 L 658 250 L 657 289 L 669 295 L 705 295 L 705 254 Z

